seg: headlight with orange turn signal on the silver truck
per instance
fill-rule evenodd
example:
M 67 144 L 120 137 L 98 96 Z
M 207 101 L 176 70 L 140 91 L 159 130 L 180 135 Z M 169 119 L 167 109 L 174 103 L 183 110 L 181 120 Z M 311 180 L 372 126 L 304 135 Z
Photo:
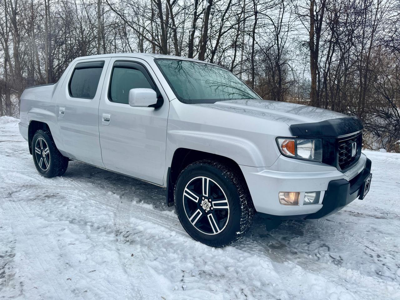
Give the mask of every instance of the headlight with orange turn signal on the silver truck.
M 322 141 L 318 138 L 276 138 L 276 143 L 284 156 L 322 162 Z

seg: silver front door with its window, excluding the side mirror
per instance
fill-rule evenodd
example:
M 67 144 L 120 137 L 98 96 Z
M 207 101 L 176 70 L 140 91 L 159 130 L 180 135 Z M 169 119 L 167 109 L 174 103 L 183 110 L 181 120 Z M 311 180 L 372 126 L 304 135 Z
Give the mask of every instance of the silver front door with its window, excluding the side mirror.
M 152 88 L 164 99 L 160 108 L 132 107 L 129 90 Z M 112 58 L 99 106 L 102 158 L 107 169 L 163 184 L 169 101 L 149 64 Z

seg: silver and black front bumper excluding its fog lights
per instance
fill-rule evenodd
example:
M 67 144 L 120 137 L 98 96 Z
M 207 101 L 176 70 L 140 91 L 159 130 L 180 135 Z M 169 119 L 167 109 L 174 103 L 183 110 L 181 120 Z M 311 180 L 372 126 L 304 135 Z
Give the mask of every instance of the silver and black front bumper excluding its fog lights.
M 371 161 L 361 154 L 358 163 L 345 173 L 325 164 L 282 156 L 271 168 L 240 167 L 256 211 L 271 219 L 290 220 L 321 218 L 352 202 L 360 196 L 364 180 L 370 175 Z M 318 204 L 289 206 L 280 204 L 280 191 L 321 191 L 324 196 Z

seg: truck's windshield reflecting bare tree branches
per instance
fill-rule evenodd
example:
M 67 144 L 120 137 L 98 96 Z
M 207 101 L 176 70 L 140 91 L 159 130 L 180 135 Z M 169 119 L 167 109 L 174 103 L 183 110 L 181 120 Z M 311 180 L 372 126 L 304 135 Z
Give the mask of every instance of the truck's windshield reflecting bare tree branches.
M 156 59 L 176 97 L 187 104 L 237 99 L 260 99 L 234 74 L 211 64 L 176 59 Z

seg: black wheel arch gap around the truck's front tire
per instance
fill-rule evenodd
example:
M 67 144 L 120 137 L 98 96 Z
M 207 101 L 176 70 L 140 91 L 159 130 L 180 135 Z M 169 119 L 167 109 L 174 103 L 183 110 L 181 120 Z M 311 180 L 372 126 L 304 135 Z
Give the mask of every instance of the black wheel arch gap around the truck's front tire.
M 166 201 L 168 206 L 172 206 L 174 204 L 174 189 L 180 172 L 193 162 L 205 159 L 217 160 L 218 162 L 221 162 L 222 164 L 225 164 L 230 168 L 234 169 L 237 172 L 237 174 L 240 174 L 240 176 L 242 177 L 241 179 L 244 180 L 244 183 L 247 186 L 242 170 L 240 169 L 237 162 L 235 162 L 231 158 L 199 150 L 178 148 L 175 150 L 174 155 L 172 156 L 171 166 L 168 168 L 167 172 Z

